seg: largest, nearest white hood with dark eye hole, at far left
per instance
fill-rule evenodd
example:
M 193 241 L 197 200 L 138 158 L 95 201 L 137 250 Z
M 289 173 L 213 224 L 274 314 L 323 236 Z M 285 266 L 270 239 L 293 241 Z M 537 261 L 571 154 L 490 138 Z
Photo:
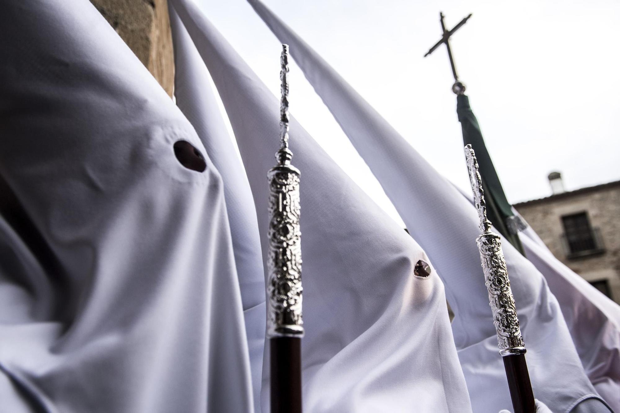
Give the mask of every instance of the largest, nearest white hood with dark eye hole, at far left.
M 251 412 L 223 184 L 190 123 L 87 0 L 2 1 L 0 37 L 0 411 Z

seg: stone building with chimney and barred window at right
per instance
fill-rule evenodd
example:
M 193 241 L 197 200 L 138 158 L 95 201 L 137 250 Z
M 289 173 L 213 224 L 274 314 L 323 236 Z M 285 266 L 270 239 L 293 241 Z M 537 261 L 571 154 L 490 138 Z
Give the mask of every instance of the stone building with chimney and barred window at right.
M 554 194 L 514 205 L 551 252 L 620 304 L 620 181 L 569 192 L 549 175 Z

